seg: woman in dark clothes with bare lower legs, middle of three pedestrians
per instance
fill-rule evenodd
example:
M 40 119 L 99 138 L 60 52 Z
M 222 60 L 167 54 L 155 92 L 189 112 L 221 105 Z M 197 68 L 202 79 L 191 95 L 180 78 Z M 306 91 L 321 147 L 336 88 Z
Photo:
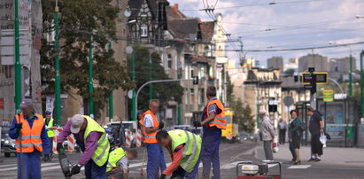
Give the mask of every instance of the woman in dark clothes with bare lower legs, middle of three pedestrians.
M 299 126 L 301 122 L 297 117 L 296 110 L 290 110 L 290 125 L 289 125 L 289 136 L 290 136 L 290 152 L 292 153 L 292 163 L 298 165 L 301 163 L 299 156 L 299 147 L 301 144 L 302 131 Z

